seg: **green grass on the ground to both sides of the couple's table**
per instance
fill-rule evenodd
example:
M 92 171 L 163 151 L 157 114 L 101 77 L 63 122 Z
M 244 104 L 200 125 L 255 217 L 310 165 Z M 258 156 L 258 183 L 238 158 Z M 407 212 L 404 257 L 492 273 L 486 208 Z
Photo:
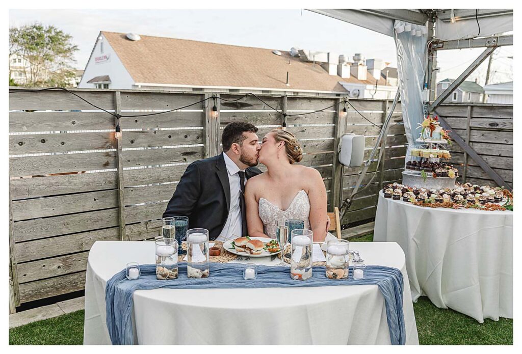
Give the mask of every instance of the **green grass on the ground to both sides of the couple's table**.
M 372 241 L 373 235 L 351 241 Z M 513 345 L 513 320 L 476 320 L 450 309 L 438 309 L 427 297 L 413 304 L 419 343 L 425 345 Z M 84 311 L 9 329 L 9 344 L 82 344 Z

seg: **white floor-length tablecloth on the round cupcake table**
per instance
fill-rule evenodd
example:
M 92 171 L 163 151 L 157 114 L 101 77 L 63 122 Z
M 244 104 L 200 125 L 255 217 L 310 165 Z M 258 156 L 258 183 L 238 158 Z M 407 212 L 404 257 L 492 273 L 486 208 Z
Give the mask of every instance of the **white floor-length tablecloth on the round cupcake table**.
M 513 212 L 430 208 L 379 194 L 374 241 L 399 243 L 411 296 L 476 319 L 513 318 Z

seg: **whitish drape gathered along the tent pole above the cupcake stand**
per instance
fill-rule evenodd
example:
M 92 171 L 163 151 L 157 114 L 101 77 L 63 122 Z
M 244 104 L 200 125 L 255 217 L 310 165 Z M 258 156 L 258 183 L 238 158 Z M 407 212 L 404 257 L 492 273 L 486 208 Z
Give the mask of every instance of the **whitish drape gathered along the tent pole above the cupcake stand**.
M 397 29 L 409 29 L 397 33 Z M 416 146 L 415 140 L 420 135 L 417 129 L 424 119 L 422 89 L 426 69 L 426 34 L 412 35 L 417 31 L 426 32 L 425 26 L 412 25 L 404 21 L 395 21 L 395 45 L 397 47 L 397 71 L 399 77 L 402 120 L 408 140 L 408 152 Z M 400 30 L 399 30 L 400 31 Z M 405 161 L 408 161 L 406 158 Z

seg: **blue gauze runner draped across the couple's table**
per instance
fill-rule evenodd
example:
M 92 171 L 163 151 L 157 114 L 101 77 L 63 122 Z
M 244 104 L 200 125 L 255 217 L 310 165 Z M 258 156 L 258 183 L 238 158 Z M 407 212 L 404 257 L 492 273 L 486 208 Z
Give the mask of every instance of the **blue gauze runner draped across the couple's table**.
M 406 343 L 404 313 L 402 312 L 402 273 L 397 268 L 380 265 L 366 267 L 364 279 L 351 279 L 353 268 L 350 267 L 350 279 L 335 280 L 325 276 L 324 266 L 314 266 L 313 276 L 307 280 L 290 278 L 290 268 L 282 266 L 257 266 L 256 279 L 243 279 L 244 264 L 210 263 L 210 277 L 187 278 L 186 262 L 179 263 L 179 277 L 173 280 L 157 280 L 156 265 L 140 265 L 141 276 L 137 280 L 128 280 L 125 270 L 116 273 L 105 287 L 106 322 L 112 344 L 134 344 L 132 330 L 132 306 L 135 290 L 158 288 L 172 289 L 212 289 L 212 288 L 284 288 L 306 286 L 338 285 L 377 285 L 381 290 L 392 344 Z

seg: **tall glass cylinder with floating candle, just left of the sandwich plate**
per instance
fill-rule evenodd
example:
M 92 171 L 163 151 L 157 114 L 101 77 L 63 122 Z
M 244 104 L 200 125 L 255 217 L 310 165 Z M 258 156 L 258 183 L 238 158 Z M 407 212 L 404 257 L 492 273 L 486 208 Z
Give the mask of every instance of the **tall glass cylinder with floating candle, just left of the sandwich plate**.
M 187 276 L 207 278 L 209 275 L 208 230 L 190 229 L 187 231 Z

